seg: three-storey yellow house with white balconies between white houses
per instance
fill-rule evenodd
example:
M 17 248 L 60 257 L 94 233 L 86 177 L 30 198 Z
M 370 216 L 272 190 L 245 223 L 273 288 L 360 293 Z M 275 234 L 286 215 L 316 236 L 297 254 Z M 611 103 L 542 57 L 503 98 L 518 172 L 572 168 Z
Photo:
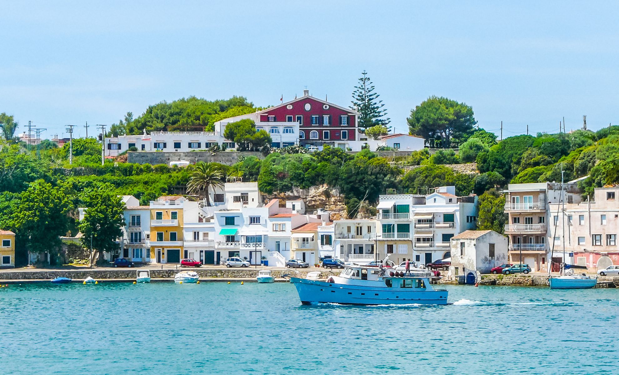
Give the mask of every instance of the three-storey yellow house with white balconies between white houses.
M 150 201 L 150 261 L 180 263 L 183 249 L 183 207 L 181 196 L 159 197 Z

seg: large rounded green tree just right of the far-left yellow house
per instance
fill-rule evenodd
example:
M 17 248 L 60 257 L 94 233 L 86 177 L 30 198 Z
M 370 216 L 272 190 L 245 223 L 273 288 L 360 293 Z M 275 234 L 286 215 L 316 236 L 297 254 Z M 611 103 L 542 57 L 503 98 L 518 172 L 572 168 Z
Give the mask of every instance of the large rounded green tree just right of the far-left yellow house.
M 42 179 L 20 194 L 14 227 L 26 239 L 28 251 L 47 251 L 53 261 L 60 246 L 59 236 L 67 234 L 69 208 L 68 194 Z

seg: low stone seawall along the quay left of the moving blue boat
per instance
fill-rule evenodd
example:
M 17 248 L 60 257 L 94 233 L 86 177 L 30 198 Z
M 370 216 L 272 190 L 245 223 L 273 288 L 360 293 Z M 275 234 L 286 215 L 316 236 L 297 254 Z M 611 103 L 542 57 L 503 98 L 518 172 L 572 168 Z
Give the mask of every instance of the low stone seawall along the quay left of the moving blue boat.
M 258 275 L 256 269 L 183 269 L 196 271 L 201 278 L 255 278 Z M 163 270 L 150 270 L 151 278 L 174 278 L 174 275 L 178 274 L 181 270 L 163 269 Z M 305 277 L 308 270 L 299 270 L 298 274 L 295 270 L 272 270 L 272 276 L 280 278 L 282 275 L 298 275 L 299 277 Z M 321 278 L 327 278 L 329 275 L 337 275 L 339 271 L 321 271 Z M 21 271 L 21 272 L 0 272 L 0 280 L 51 280 L 56 277 L 69 277 L 74 280 L 83 280 L 87 277 L 92 277 L 97 280 L 110 280 L 110 279 L 127 279 L 133 280 L 136 278 L 136 269 L 122 269 L 122 270 L 97 270 L 97 269 L 85 269 L 85 270 L 33 270 L 33 271 Z

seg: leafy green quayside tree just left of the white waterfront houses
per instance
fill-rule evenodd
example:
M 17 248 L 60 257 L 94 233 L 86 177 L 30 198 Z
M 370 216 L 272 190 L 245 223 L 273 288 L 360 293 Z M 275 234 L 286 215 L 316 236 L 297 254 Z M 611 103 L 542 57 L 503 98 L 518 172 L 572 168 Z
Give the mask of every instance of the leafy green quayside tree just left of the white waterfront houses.
M 104 252 L 118 249 L 118 238 L 123 236 L 124 203 L 111 186 L 100 184 L 97 189 L 89 189 L 82 194 L 86 210 L 84 220 L 79 223 L 82 245 L 99 251 L 100 262 Z

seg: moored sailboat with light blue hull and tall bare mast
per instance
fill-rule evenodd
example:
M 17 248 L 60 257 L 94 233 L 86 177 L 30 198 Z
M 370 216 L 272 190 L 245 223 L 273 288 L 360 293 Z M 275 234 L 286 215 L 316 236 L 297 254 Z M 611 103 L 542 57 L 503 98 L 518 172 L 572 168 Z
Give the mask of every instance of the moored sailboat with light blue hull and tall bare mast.
M 587 269 L 582 265 L 567 264 L 565 262 L 565 191 L 563 191 L 563 171 L 561 171 L 561 226 L 563 227 L 563 262 L 561 263 L 561 269 L 559 276 L 551 276 L 552 271 L 552 256 L 555 251 L 555 243 L 552 243 L 552 251 L 550 253 L 550 267 L 548 267 L 548 286 L 550 289 L 588 289 L 595 287 L 597 284 L 597 275 L 595 277 L 587 276 L 586 274 L 575 274 L 574 269 Z M 559 208 L 556 209 L 557 215 Z M 557 220 L 558 223 L 558 220 Z M 555 223 L 555 235 L 556 235 L 556 223 Z

